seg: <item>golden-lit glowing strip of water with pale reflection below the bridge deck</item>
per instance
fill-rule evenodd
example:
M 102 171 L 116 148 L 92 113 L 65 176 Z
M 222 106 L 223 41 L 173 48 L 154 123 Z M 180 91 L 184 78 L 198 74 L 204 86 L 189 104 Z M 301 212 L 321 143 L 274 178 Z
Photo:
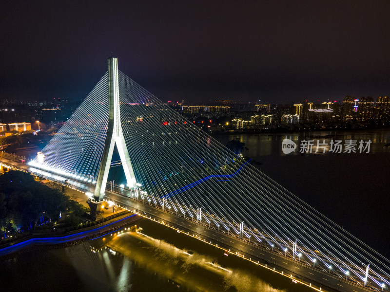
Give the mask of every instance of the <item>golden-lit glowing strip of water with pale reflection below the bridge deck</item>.
M 125 256 L 126 268 L 117 280 L 117 291 L 130 285 L 125 277 L 129 260 L 148 271 L 158 274 L 177 290 L 185 291 L 237 291 L 281 292 L 258 277 L 238 269 L 222 267 L 212 256 L 179 249 L 176 246 L 142 233 L 126 232 L 114 237 L 98 253 L 107 255 L 107 249 Z

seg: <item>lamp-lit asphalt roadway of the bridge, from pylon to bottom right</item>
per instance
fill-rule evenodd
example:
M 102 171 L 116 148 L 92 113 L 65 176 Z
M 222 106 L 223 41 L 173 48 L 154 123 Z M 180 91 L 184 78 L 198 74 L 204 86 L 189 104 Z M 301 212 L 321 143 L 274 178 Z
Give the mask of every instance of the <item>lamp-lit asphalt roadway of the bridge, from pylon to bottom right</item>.
M 294 278 L 302 279 L 308 283 L 316 283 L 316 286 L 323 287 L 323 289 L 327 288 L 329 290 L 329 288 L 332 288 L 342 292 L 372 291 L 365 288 L 362 284 L 354 284 L 336 274 L 330 274 L 329 270 L 313 268 L 309 264 L 299 261 L 299 259 L 292 259 L 288 254 L 287 256 L 278 254 L 269 248 L 264 248 L 226 233 L 218 232 L 218 230 L 209 228 L 206 224 L 199 224 L 196 221 L 185 219 L 182 216 L 176 216 L 176 213 L 163 211 L 148 203 L 126 197 L 124 194 L 107 191 L 105 199 L 107 201 L 114 201 L 120 206 L 128 206 L 129 210 L 135 209 L 137 212 L 148 216 L 148 218 L 156 219 L 156 221 L 160 220 L 164 223 L 170 223 L 176 226 L 176 228 L 183 230 L 183 232 L 197 235 L 201 239 L 211 240 L 213 244 L 218 244 L 218 247 L 230 250 L 234 254 L 239 253 L 241 256 L 252 258 L 252 260 L 259 261 L 263 264 L 271 264 L 273 267 L 278 266 L 278 270 L 283 271 L 284 274 L 292 274 Z

